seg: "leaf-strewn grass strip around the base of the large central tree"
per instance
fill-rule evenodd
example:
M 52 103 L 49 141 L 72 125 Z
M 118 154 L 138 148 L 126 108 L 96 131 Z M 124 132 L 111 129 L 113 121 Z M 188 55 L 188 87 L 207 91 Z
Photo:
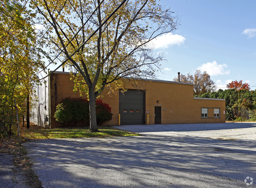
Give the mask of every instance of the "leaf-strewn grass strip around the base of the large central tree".
M 21 128 L 20 135 L 28 139 L 140 136 L 140 134 L 113 127 L 100 126 L 98 129 L 100 132 L 89 132 L 89 127 L 44 129 L 37 125 L 30 125 L 30 129 Z

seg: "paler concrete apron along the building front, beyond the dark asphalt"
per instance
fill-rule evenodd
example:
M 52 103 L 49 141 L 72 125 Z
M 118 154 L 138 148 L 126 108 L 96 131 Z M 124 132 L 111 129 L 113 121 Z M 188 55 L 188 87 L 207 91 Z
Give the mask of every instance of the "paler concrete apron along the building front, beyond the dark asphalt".
M 175 137 L 183 135 L 214 139 L 256 141 L 256 122 L 121 125 L 114 127 L 122 130 L 141 133 L 143 135 L 166 135 Z

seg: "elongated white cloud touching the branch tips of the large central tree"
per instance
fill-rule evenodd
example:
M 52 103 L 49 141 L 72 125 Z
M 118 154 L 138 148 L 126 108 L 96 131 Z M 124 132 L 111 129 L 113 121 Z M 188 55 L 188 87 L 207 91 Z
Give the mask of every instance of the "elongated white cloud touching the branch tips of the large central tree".
M 148 46 L 150 48 L 154 48 L 154 49 L 158 49 L 158 48 L 168 48 L 169 46 L 172 45 L 180 45 L 183 44 L 185 41 L 185 37 L 183 37 L 182 35 L 172 35 L 172 33 L 167 33 L 167 34 L 163 34 L 162 36 L 158 36 L 155 39 L 153 39 L 152 41 L 150 41 L 150 43 L 148 44 Z

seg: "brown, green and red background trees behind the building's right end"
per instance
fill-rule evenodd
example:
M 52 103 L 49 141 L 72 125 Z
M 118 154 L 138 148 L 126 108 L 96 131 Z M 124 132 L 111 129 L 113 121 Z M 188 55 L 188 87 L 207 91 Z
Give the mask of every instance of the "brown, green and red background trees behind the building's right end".
M 179 78 L 174 77 L 178 82 Z M 195 74 L 180 74 L 180 82 L 194 84 L 194 97 L 200 98 L 224 98 L 226 105 L 226 120 L 256 121 L 256 90 L 250 90 L 248 83 L 242 80 L 232 81 L 226 85 L 227 90 L 216 91 L 216 83 L 206 71 L 196 70 Z

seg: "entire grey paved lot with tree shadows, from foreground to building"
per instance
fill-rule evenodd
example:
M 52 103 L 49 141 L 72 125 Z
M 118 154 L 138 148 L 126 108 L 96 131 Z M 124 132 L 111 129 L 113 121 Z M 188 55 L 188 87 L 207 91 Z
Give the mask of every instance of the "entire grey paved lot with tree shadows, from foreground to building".
M 256 187 L 255 127 L 253 123 L 132 125 L 119 128 L 144 136 L 46 139 L 23 145 L 43 187 L 251 188 Z M 236 129 L 243 129 L 237 140 L 207 138 L 211 132 L 227 137 Z

